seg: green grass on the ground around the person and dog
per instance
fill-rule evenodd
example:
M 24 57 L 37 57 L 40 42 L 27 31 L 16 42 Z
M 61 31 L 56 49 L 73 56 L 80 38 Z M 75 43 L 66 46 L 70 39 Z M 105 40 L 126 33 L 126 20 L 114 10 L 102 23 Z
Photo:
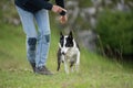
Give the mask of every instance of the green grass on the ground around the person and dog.
M 59 33 L 52 29 L 47 66 L 53 76 L 35 75 L 25 57 L 25 36 L 21 26 L 1 25 L 0 88 L 133 88 L 133 65 L 86 52 L 81 47 L 80 73 L 57 72 Z

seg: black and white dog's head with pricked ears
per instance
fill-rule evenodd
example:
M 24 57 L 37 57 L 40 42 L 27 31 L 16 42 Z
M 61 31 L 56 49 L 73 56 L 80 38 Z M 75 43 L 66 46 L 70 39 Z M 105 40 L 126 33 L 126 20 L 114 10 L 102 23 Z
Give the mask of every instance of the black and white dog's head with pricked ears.
M 74 46 L 73 35 L 72 32 L 69 35 L 63 35 L 62 32 L 60 33 L 60 43 L 59 47 L 61 48 L 61 54 L 65 54 L 69 48 Z

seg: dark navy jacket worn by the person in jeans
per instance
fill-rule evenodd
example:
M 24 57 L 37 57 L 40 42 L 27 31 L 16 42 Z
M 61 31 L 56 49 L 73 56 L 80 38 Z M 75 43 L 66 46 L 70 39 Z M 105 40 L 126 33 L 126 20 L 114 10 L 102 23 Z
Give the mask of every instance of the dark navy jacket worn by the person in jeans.
M 51 10 L 53 4 L 49 2 L 49 0 L 14 0 L 14 3 L 30 12 L 37 12 L 41 9 Z M 55 3 L 62 8 L 64 8 L 63 0 L 55 0 Z M 65 12 L 64 12 L 65 13 Z M 63 15 L 62 13 L 60 13 Z

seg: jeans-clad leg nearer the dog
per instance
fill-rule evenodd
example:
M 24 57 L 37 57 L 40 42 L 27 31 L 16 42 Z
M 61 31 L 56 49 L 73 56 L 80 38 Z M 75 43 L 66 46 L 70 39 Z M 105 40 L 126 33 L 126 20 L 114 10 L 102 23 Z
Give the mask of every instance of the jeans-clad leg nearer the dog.
M 49 54 L 50 46 L 50 23 L 49 23 L 49 13 L 47 10 L 42 9 L 35 14 L 35 20 L 39 29 L 38 44 L 37 44 L 37 68 L 44 67 L 47 64 L 47 58 Z M 44 72 L 42 74 L 50 75 L 50 72 Z

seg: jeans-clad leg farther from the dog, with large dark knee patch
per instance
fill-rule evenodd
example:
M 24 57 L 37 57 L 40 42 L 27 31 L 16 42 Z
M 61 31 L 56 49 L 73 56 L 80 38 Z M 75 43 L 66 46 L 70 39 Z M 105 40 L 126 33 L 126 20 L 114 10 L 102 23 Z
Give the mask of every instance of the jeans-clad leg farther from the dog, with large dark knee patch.
M 33 22 L 33 14 L 22 10 L 21 8 L 17 7 L 18 13 L 20 15 L 20 20 L 22 22 L 22 26 L 24 33 L 27 34 L 27 56 L 28 61 L 30 62 L 31 66 L 35 67 L 35 44 L 37 44 L 37 32 Z

